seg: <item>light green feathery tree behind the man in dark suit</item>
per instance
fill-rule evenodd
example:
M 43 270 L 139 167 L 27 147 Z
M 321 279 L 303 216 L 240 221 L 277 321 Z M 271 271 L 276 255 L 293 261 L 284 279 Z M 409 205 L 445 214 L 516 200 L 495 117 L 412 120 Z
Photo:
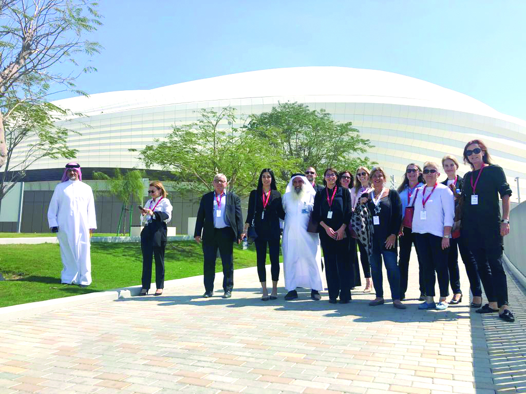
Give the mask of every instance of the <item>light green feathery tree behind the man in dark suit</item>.
M 217 173 L 224 173 L 228 190 L 247 195 L 263 168 L 284 169 L 288 162 L 273 148 L 276 141 L 261 139 L 247 128 L 235 128 L 235 109 L 202 109 L 190 125 L 176 126 L 164 140 L 140 151 L 147 168 L 171 171 L 179 192 L 201 194 L 212 189 Z

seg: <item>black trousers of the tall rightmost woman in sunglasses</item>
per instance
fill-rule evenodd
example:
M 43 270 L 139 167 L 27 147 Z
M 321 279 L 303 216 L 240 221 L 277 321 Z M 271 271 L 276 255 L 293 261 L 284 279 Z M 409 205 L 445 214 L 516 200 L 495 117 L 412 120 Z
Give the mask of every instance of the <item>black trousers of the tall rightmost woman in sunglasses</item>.
M 503 267 L 503 247 L 481 242 L 480 237 L 468 237 L 468 247 L 475 261 L 488 302 L 497 302 L 499 308 L 508 305 L 508 283 Z

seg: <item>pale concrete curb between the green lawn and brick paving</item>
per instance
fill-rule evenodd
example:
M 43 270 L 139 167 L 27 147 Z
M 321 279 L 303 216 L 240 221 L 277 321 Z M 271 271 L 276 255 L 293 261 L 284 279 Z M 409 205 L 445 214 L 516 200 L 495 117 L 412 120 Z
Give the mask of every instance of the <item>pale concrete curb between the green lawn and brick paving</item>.
M 249 273 L 249 271 L 256 271 L 256 267 L 239 268 L 235 270 L 237 275 L 244 275 Z M 196 275 L 180 279 L 171 279 L 170 281 L 165 282 L 165 287 L 183 286 L 187 283 L 192 283 L 198 280 L 199 278 L 201 279 L 200 283 L 203 283 L 203 275 Z M 222 278 L 223 274 L 221 272 L 217 272 L 215 282 L 217 281 L 221 283 Z M 255 278 L 256 281 L 257 277 Z M 151 288 L 155 289 L 155 283 L 151 284 Z M 140 289 L 141 285 L 128 286 L 104 292 L 79 294 L 76 296 L 47 299 L 44 301 L 37 301 L 34 303 L 5 306 L 3 308 L 0 308 L 0 323 L 8 322 L 9 320 L 24 318 L 27 316 L 39 315 L 42 313 L 50 312 L 52 310 L 61 309 L 65 307 L 72 308 L 99 301 L 133 297 L 140 293 Z

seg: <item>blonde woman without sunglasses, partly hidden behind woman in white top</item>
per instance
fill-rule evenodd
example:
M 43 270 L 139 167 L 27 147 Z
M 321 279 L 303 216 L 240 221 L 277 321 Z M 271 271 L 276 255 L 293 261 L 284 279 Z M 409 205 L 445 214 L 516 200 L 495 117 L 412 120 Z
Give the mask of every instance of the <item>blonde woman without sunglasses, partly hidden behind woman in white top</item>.
M 460 175 L 457 174 L 459 168 L 459 162 L 457 158 L 448 154 L 442 158 L 442 168 L 448 175 L 448 178 L 442 182 L 443 185 L 449 186 L 453 192 L 455 199 L 455 209 L 459 204 L 460 191 L 464 180 Z M 454 226 L 453 226 L 454 228 Z M 454 232 L 452 233 L 455 236 Z M 451 291 L 453 292 L 453 298 L 451 298 L 450 304 L 459 304 L 462 302 L 462 290 L 460 289 L 460 271 L 458 264 L 458 256 L 462 257 L 462 262 L 466 266 L 466 273 L 468 274 L 469 286 L 471 293 L 473 294 L 473 302 L 471 303 L 472 308 L 480 308 L 482 306 L 482 288 L 480 287 L 480 277 L 477 272 L 477 262 L 475 257 L 469 251 L 466 241 L 462 236 L 449 240 L 449 252 L 448 252 L 448 271 L 449 271 L 449 283 L 451 285 Z

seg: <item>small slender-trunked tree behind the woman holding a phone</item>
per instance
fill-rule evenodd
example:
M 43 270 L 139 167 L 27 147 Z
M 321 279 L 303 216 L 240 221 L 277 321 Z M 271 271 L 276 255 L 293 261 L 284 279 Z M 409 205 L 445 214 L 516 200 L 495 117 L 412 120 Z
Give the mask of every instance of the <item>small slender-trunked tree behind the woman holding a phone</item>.
M 123 235 L 126 229 L 126 212 L 130 213 L 130 220 L 128 225 L 128 233 L 131 233 L 131 219 L 133 217 L 133 203 L 138 201 L 140 204 L 143 203 L 144 195 L 144 184 L 143 172 L 139 170 L 128 171 L 125 174 L 120 172 L 117 168 L 113 178 L 103 172 L 94 172 L 93 177 L 98 180 L 108 181 L 110 193 L 117 196 L 117 198 L 123 202 L 122 209 L 120 210 L 119 224 L 117 225 L 117 236 L 120 233 L 120 223 L 123 222 Z M 128 209 L 128 204 L 130 208 Z

